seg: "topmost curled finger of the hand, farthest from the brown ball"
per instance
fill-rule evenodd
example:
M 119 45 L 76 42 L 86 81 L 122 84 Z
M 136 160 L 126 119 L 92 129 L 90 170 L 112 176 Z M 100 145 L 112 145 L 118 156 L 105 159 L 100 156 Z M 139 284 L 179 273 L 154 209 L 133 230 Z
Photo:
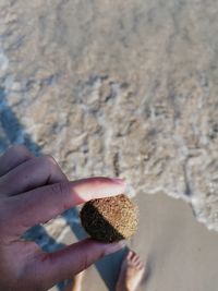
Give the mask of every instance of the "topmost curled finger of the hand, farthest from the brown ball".
M 34 155 L 22 145 L 9 148 L 3 156 L 0 157 L 0 177 L 7 174 L 13 168 L 29 160 Z

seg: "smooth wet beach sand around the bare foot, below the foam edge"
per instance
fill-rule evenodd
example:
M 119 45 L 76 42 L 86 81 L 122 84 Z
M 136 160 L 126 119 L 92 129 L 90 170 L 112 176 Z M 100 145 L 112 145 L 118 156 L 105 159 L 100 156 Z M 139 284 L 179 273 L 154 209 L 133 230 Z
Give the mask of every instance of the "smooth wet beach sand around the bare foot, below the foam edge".
M 166 195 L 138 195 L 141 223 L 128 243 L 146 263 L 140 290 L 214 291 L 218 286 L 218 233 L 198 223 L 191 207 Z M 64 238 L 71 243 L 72 233 Z M 83 290 L 113 290 L 124 251 L 86 270 Z M 52 289 L 57 290 L 57 289 Z

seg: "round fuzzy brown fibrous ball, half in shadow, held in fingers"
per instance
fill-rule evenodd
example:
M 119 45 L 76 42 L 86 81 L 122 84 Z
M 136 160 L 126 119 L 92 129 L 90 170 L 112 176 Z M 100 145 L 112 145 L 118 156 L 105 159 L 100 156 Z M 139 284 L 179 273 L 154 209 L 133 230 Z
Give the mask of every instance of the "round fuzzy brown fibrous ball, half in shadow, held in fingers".
M 81 221 L 93 239 L 116 242 L 136 231 L 138 213 L 132 201 L 121 194 L 87 202 L 81 210 Z

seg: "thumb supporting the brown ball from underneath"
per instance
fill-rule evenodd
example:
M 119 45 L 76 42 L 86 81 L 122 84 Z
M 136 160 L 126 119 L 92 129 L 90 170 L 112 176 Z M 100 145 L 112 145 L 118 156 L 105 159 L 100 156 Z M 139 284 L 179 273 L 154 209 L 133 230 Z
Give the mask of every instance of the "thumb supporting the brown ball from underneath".
M 106 244 L 86 239 L 61 251 L 46 254 L 40 266 L 41 278 L 45 278 L 46 274 L 45 287 L 50 288 L 64 279 L 73 278 L 99 258 L 120 251 L 124 245 L 123 241 Z

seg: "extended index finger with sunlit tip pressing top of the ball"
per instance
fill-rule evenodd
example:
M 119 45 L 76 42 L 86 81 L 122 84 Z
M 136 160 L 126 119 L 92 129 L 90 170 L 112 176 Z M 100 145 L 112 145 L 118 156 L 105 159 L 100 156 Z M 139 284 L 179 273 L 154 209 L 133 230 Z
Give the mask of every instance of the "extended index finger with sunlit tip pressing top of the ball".
M 89 199 L 122 194 L 124 190 L 122 180 L 109 178 L 89 178 L 38 187 L 5 202 L 8 225 L 16 234 L 22 234 L 28 228 L 48 221 L 65 209 Z

